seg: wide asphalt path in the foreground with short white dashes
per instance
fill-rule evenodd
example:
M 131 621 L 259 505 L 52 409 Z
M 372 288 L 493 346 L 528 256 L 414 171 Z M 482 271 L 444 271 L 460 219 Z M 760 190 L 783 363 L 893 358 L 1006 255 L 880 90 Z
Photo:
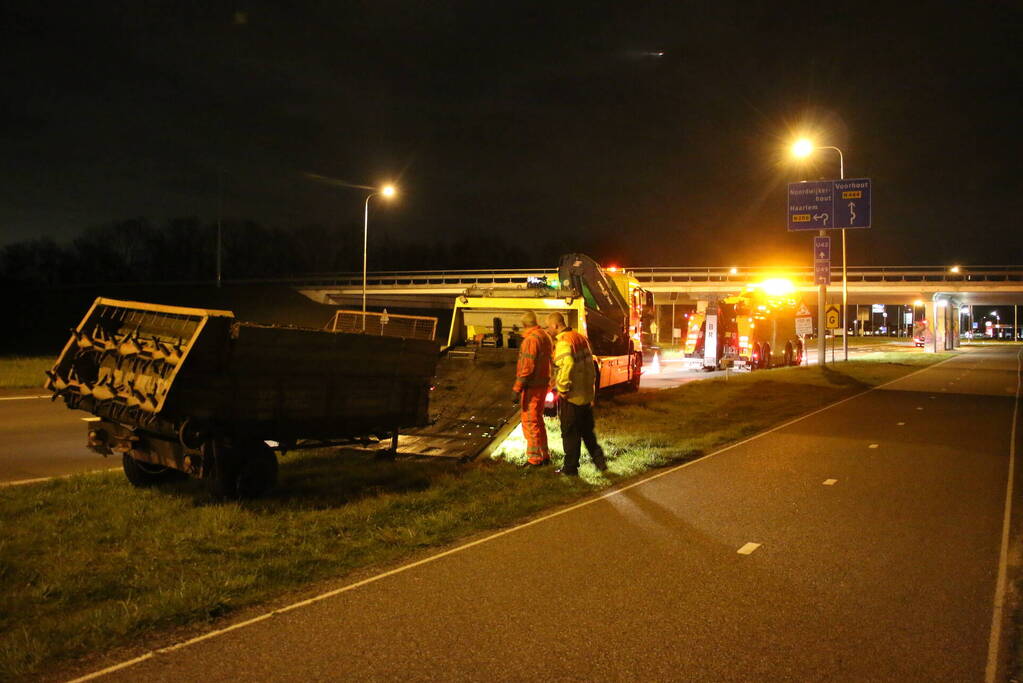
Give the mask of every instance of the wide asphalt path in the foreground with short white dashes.
M 105 680 L 984 680 L 1019 351 Z

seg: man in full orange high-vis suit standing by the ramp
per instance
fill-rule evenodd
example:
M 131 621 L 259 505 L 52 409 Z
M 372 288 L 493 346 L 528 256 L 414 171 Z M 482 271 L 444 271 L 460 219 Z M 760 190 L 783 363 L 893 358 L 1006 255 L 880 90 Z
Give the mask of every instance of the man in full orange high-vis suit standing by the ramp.
M 543 424 L 543 403 L 550 383 L 550 357 L 553 344 L 536 322 L 536 314 L 522 314 L 522 340 L 519 344 L 519 365 L 516 369 L 515 398 L 522 410 L 522 432 L 526 437 L 526 462 L 540 466 L 550 462 L 547 450 L 547 427 Z

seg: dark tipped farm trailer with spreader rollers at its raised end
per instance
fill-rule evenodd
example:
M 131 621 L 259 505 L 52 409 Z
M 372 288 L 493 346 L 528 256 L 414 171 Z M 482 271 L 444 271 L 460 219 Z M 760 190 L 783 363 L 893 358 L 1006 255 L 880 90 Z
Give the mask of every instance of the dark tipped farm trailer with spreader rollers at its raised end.
M 128 480 L 179 473 L 217 497 L 276 482 L 275 451 L 428 422 L 438 345 L 241 322 L 230 311 L 97 299 L 46 389 L 95 415 L 88 446 Z

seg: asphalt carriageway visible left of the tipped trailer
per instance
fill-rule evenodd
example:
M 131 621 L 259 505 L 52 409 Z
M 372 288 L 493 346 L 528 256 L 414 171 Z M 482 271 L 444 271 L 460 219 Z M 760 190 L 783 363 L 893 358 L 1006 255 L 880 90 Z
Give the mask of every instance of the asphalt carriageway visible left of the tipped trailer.
M 0 394 L 0 486 L 120 466 L 85 447 L 87 413 L 39 396 Z

